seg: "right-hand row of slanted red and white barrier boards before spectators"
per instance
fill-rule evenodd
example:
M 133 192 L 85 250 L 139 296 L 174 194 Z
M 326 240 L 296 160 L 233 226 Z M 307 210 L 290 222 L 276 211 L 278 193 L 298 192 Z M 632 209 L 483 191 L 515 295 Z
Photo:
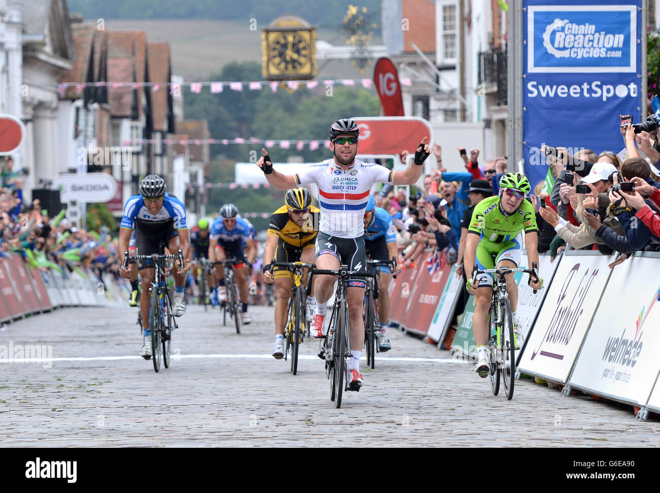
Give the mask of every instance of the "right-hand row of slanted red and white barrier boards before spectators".
M 431 253 L 415 260 L 393 280 L 391 321 L 405 331 L 445 341 L 461 290 L 462 278 L 441 256 L 440 269 L 426 268 Z M 528 276 L 518 283 L 517 317 L 525 343 L 517 355 L 517 375 L 527 374 L 573 389 L 632 405 L 638 418 L 660 413 L 660 253 L 636 252 L 612 269 L 614 255 L 570 250 L 554 261 L 539 255 L 544 288 L 533 294 Z M 523 249 L 521 267 L 527 267 Z M 472 330 L 475 300 L 470 296 L 451 353 L 474 358 Z

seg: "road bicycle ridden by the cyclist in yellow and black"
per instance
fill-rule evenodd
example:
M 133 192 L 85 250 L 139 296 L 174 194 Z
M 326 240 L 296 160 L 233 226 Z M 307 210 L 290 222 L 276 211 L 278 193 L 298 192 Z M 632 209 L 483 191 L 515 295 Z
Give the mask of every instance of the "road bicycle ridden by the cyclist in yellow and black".
M 271 262 L 271 273 L 273 267 L 282 267 L 293 270 L 291 279 L 291 297 L 288 301 L 288 319 L 284 327 L 284 360 L 288 358 L 289 348 L 291 349 L 291 372 L 298 373 L 298 349 L 299 345 L 305 339 L 305 331 L 309 335 L 310 323 L 305 317 L 305 308 L 307 303 L 307 294 L 302 285 L 302 269 L 313 269 L 313 263 L 302 262 Z

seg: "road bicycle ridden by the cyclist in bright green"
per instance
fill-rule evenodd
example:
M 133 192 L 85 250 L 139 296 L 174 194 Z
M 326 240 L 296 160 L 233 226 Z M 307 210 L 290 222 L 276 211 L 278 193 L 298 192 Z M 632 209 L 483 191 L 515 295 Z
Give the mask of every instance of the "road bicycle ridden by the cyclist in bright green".
M 477 280 L 480 274 L 496 275 L 496 286 L 493 288 L 493 299 L 488 310 L 488 352 L 490 353 L 490 388 L 493 395 L 500 391 L 500 376 L 504 385 L 506 398 L 513 397 L 513 381 L 515 380 L 515 333 L 513 333 L 513 315 L 511 303 L 509 302 L 506 289 L 506 276 L 511 273 L 522 272 L 530 275 L 530 279 L 538 282 L 539 270 L 536 262 L 532 262 L 531 269 L 512 269 L 511 267 L 500 267 L 498 269 L 479 270 L 475 264 L 472 282 Z M 534 294 L 537 290 L 534 290 Z

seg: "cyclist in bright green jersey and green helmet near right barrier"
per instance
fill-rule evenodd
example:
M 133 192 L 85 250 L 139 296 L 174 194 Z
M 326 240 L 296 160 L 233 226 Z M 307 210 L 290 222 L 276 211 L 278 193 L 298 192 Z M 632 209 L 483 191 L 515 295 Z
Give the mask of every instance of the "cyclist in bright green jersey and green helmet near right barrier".
M 507 173 L 500 180 L 500 194 L 480 201 L 472 214 L 468 227 L 467 244 L 463 265 L 468 273 L 467 290 L 475 295 L 475 316 L 472 327 L 477 343 L 477 373 L 486 378 L 490 372 L 490 357 L 486 344 L 488 343 L 488 310 L 492 302 L 493 275 L 482 274 L 472 284 L 472 269 L 475 263 L 479 270 L 499 267 L 518 267 L 521 255 L 522 234 L 525 231 L 525 247 L 527 260 L 539 263 L 537 251 L 537 224 L 534 206 L 525 200 L 530 186 L 527 177 L 521 173 Z M 539 282 L 529 280 L 530 286 L 538 290 L 543 286 L 543 278 Z M 506 277 L 506 286 L 513 313 L 513 329 L 517 348 L 522 346 L 522 338 L 517 333 L 516 308 L 518 301 L 518 286 L 513 279 L 513 273 Z M 482 289 L 478 289 L 482 288 Z

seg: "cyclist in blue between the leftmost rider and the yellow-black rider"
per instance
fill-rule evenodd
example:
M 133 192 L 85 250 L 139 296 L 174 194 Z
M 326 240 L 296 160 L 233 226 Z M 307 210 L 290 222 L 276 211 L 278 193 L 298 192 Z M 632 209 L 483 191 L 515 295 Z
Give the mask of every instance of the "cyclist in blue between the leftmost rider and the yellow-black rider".
M 246 248 L 243 247 L 245 242 Z M 229 257 L 237 259 L 234 264 L 234 273 L 243 305 L 243 323 L 248 325 L 252 321 L 248 315 L 248 274 L 246 259 L 253 263 L 257 256 L 257 246 L 252 241 L 248 223 L 238 217 L 238 209 L 234 204 L 227 203 L 220 209 L 220 217 L 213 221 L 211 226 L 211 240 L 209 242 L 209 259 L 220 262 Z M 227 299 L 227 290 L 224 286 L 224 265 L 215 266 L 215 275 L 218 277 L 218 300 Z

